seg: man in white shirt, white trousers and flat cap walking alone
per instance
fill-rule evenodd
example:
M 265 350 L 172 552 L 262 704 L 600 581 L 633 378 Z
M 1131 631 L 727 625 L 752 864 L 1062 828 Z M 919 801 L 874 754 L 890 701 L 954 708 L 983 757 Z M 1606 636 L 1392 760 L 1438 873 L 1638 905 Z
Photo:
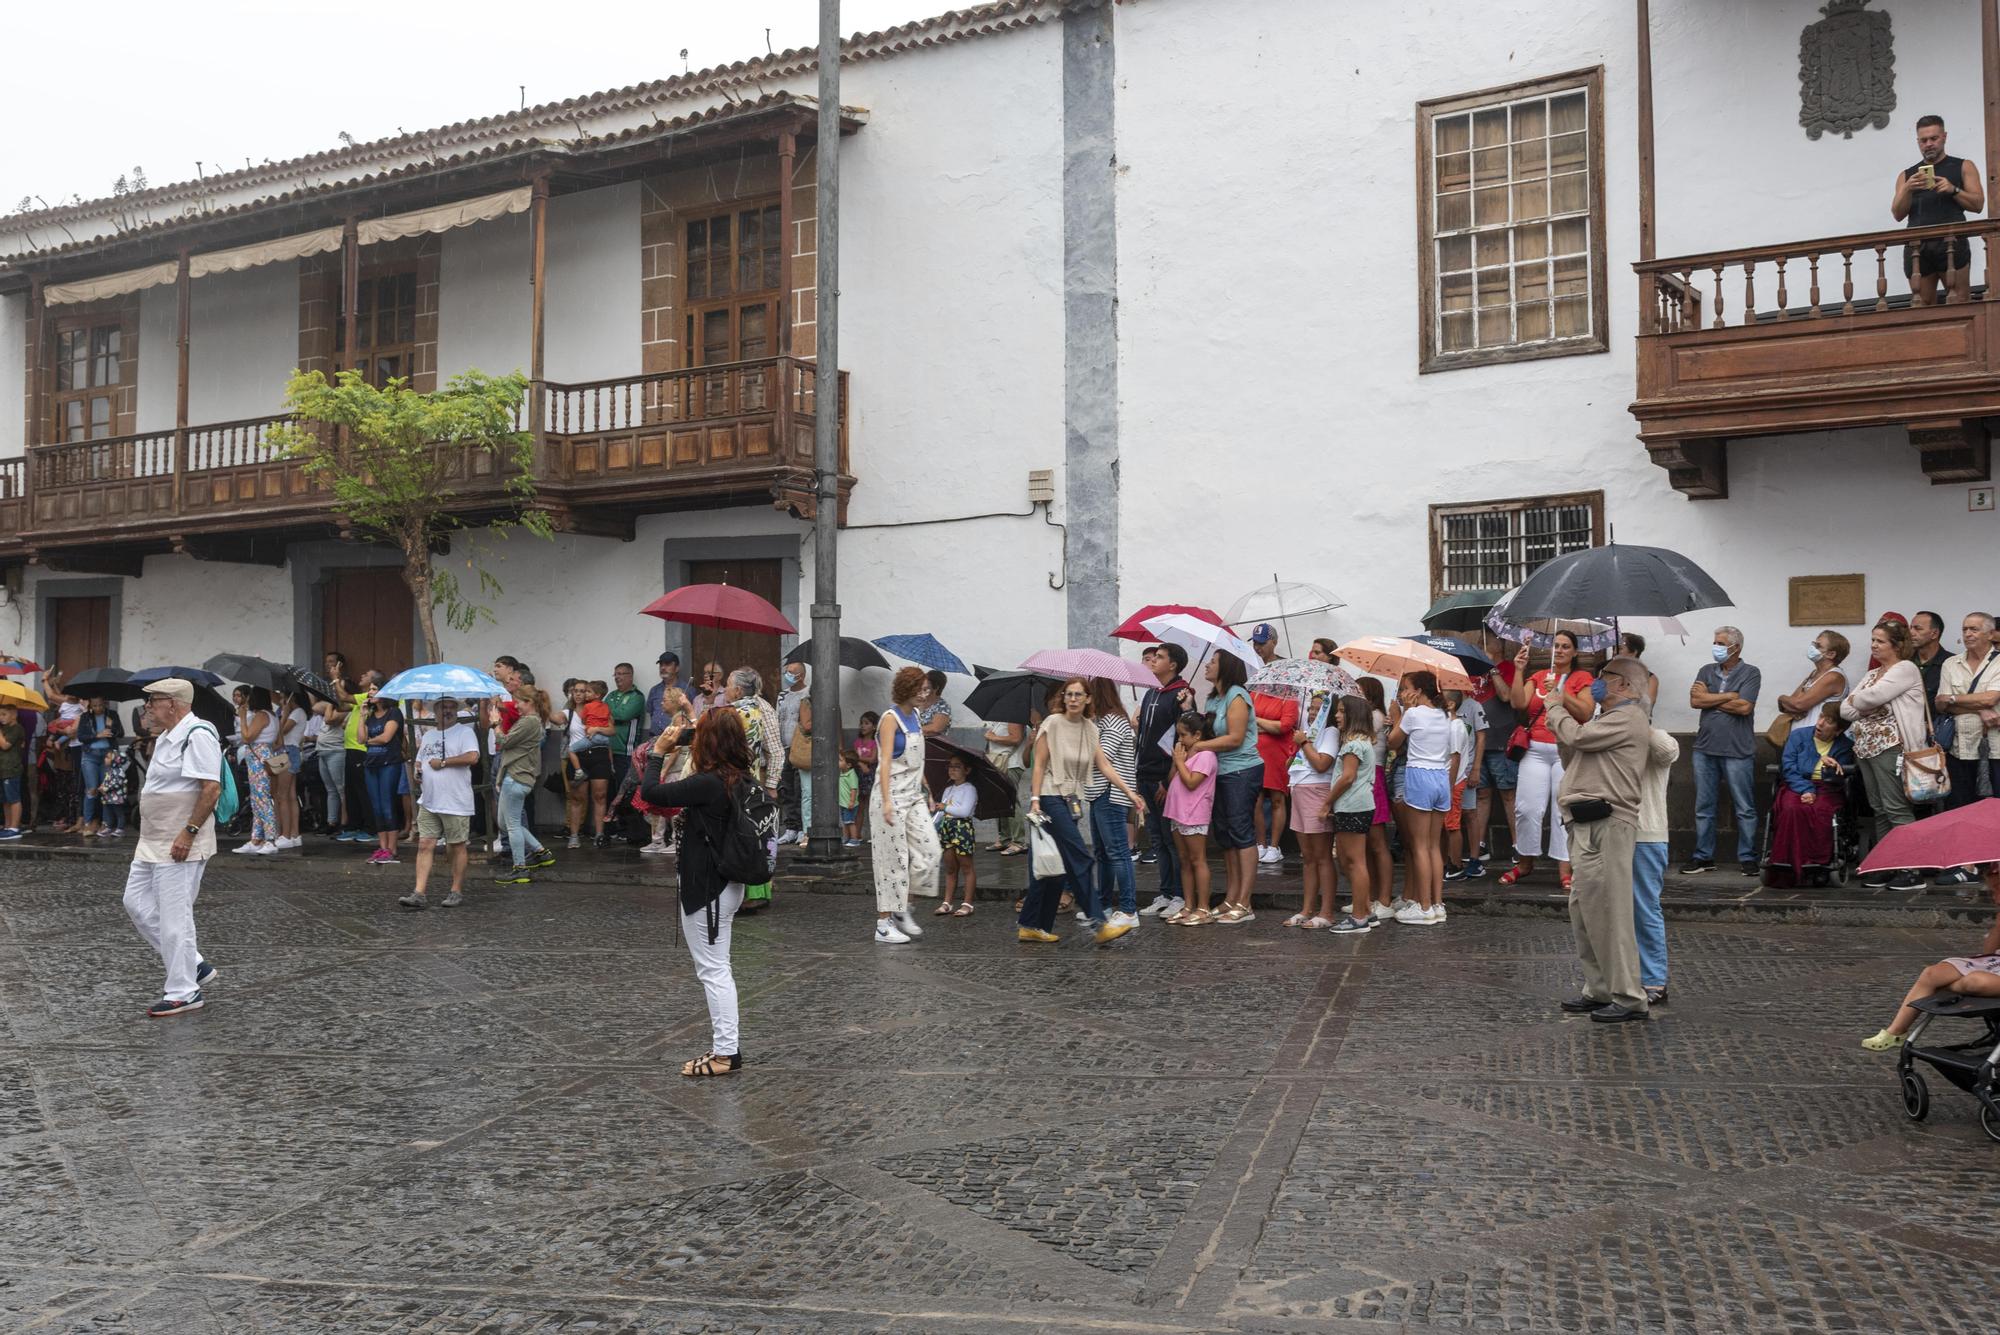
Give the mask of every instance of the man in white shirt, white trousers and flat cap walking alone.
M 166 1019 L 202 1009 L 202 985 L 216 979 L 194 945 L 194 897 L 216 855 L 222 737 L 194 717 L 194 685 L 180 677 L 146 687 L 146 717 L 158 739 L 140 789 L 126 913 L 166 963 L 166 991 L 146 1007 L 150 1019 Z

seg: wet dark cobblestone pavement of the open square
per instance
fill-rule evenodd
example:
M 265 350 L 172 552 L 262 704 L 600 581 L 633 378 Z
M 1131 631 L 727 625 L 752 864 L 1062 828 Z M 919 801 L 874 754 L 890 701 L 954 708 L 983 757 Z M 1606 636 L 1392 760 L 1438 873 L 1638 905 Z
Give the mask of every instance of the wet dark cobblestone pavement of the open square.
M 1592 1025 L 1526 905 L 878 947 L 780 883 L 748 1065 L 684 1081 L 664 869 L 404 913 L 408 861 L 274 861 L 174 1021 L 118 861 L 0 861 L 0 1329 L 1994 1325 L 2000 1145 L 1858 1047 L 1976 925 L 1676 919 L 1672 1003 Z

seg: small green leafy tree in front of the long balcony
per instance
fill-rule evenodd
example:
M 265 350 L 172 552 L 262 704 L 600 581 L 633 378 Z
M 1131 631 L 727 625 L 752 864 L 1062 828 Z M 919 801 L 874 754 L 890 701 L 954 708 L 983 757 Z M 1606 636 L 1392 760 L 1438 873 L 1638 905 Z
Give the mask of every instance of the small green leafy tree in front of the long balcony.
M 432 610 L 458 632 L 492 622 L 486 602 L 476 602 L 452 570 L 432 566 L 436 546 L 458 528 L 452 512 L 462 480 L 498 478 L 500 514 L 488 528 L 524 528 L 550 538 L 548 514 L 534 506 L 534 436 L 516 430 L 526 378 L 466 372 L 434 394 L 418 394 L 406 380 L 380 390 L 356 372 L 328 380 L 322 372 L 292 372 L 284 404 L 292 420 L 270 434 L 270 444 L 300 462 L 306 476 L 332 492 L 334 514 L 356 532 L 394 544 L 402 552 L 402 578 L 416 600 L 428 662 L 438 662 L 438 628 Z M 492 456 L 492 470 L 474 470 L 476 454 Z M 476 558 L 482 600 L 502 594 L 500 582 Z

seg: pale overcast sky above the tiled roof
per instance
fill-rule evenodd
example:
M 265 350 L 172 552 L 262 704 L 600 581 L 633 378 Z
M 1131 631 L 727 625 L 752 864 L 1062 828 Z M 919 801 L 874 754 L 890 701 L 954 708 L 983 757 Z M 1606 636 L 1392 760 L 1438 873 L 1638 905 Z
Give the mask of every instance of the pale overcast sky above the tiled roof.
M 966 0 L 842 0 L 874 32 Z M 814 46 L 818 0 L 400 0 L 344 10 L 292 0 L 20 0 L 6 6 L 0 212 L 164 186 L 244 158 L 336 148 Z M 78 28 L 88 28 L 80 42 Z M 70 52 L 58 56 L 58 52 Z M 40 208 L 40 206 L 36 206 Z

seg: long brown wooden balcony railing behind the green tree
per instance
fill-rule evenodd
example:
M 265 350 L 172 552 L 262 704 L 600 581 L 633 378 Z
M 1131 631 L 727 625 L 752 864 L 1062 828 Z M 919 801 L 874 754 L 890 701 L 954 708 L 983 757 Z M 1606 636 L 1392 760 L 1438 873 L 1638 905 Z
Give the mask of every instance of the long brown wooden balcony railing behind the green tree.
M 840 502 L 852 488 L 846 372 Z M 530 390 L 536 504 L 568 532 L 632 538 L 662 510 L 772 504 L 810 516 L 816 368 L 764 358 Z M 138 574 L 152 554 L 282 564 L 288 542 L 340 534 L 328 492 L 268 444 L 282 418 L 250 418 L 110 440 L 36 446 L 0 464 L 0 562 Z M 450 464 L 450 462 L 448 462 Z M 458 452 L 452 510 L 508 510 L 494 460 Z

